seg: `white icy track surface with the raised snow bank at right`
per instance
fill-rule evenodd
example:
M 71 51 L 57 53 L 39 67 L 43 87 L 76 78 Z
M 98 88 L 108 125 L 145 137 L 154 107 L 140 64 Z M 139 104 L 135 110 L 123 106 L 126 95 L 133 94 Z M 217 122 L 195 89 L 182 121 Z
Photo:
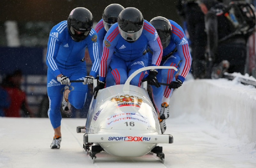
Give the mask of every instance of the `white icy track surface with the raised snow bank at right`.
M 156 154 L 116 157 L 101 152 L 95 163 L 82 148 L 76 126 L 85 118 L 63 118 L 60 149 L 50 149 L 53 130 L 48 118 L 0 117 L 0 167 L 8 168 L 255 168 L 256 89 L 236 81 L 189 80 L 173 92 L 163 146 Z

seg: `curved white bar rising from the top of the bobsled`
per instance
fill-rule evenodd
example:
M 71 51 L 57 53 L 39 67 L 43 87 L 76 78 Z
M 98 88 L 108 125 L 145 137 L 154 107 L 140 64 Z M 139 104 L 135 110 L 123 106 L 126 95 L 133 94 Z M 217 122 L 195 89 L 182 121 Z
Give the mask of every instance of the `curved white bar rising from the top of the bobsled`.
M 143 67 L 143 68 L 137 69 L 126 80 L 124 87 L 123 87 L 123 91 L 130 90 L 130 82 L 131 82 L 132 78 L 134 78 L 134 76 L 136 76 L 137 74 L 139 74 L 142 71 L 149 70 L 149 69 L 174 69 L 175 71 L 178 71 L 178 69 L 176 67 L 172 67 L 172 66 L 171 67 L 170 66 L 149 66 L 149 67 Z

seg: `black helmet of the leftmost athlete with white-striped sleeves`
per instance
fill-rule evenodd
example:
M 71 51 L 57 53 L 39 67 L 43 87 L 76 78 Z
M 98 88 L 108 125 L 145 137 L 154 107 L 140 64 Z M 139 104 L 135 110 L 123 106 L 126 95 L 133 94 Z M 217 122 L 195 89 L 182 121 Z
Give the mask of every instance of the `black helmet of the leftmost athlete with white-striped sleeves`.
M 93 25 L 92 13 L 83 7 L 73 9 L 68 17 L 68 31 L 76 42 L 84 40 L 90 33 Z M 76 34 L 75 31 L 83 32 Z

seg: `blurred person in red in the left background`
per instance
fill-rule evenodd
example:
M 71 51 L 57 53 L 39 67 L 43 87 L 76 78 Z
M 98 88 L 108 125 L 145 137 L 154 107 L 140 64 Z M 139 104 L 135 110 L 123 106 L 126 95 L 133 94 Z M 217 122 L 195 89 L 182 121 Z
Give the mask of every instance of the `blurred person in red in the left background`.
M 26 93 L 21 90 L 22 71 L 20 69 L 6 76 L 3 81 L 3 88 L 8 92 L 11 104 L 9 108 L 4 109 L 6 117 L 32 117 L 33 113 L 28 107 Z M 23 112 L 20 114 L 20 111 Z

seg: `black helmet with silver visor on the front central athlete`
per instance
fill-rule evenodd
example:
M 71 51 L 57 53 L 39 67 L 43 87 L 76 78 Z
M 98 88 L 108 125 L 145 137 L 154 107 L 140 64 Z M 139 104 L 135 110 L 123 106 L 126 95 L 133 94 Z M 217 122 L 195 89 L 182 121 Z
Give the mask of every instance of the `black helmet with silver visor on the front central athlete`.
M 119 33 L 126 41 L 134 42 L 140 37 L 144 19 L 138 9 L 133 7 L 125 8 L 120 12 L 117 22 Z

